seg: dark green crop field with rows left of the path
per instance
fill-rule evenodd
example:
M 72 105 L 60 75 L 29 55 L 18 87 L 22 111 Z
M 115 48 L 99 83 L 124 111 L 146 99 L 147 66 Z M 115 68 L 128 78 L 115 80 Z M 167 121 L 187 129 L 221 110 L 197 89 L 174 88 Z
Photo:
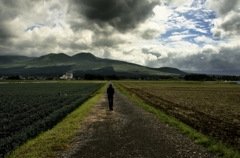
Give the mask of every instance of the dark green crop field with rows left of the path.
M 0 157 L 60 122 L 103 83 L 0 84 Z

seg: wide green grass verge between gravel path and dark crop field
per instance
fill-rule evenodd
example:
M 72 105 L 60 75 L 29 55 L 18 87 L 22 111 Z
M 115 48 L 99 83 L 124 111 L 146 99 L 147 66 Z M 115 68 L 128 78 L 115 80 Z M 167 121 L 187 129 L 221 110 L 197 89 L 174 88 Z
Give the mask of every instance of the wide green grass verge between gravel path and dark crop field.
M 106 90 L 106 84 L 93 94 L 92 98 L 70 113 L 54 128 L 29 140 L 18 149 L 6 155 L 6 158 L 19 157 L 56 157 L 57 151 L 67 150 L 70 141 L 79 132 L 79 122 L 83 120 Z

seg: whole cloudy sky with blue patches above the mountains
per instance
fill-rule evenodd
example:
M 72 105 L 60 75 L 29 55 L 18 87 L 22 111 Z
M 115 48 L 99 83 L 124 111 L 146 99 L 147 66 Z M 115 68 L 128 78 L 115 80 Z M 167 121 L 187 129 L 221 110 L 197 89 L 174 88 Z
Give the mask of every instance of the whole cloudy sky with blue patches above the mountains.
M 239 72 L 240 0 L 0 0 L 0 55 Z

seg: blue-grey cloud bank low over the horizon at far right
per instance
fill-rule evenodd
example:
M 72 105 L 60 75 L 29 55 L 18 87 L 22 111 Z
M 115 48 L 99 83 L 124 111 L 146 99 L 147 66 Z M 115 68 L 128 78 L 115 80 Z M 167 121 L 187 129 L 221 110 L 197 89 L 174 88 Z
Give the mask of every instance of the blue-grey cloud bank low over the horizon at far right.
M 214 50 L 212 50 L 214 51 Z M 173 67 L 182 69 L 202 69 L 202 70 L 240 70 L 239 68 L 240 51 L 239 47 L 234 49 L 221 48 L 219 53 L 208 50 L 207 53 L 188 55 L 185 57 L 159 59 L 158 62 L 168 63 Z

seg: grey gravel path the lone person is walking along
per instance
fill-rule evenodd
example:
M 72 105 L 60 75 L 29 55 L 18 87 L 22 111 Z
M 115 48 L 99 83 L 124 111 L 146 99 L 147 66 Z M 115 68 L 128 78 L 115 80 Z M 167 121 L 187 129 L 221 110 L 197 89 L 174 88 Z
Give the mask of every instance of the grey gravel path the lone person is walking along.
M 116 90 L 113 111 L 104 95 L 82 121 L 78 138 L 64 158 L 213 158 L 214 155 L 162 123 Z

